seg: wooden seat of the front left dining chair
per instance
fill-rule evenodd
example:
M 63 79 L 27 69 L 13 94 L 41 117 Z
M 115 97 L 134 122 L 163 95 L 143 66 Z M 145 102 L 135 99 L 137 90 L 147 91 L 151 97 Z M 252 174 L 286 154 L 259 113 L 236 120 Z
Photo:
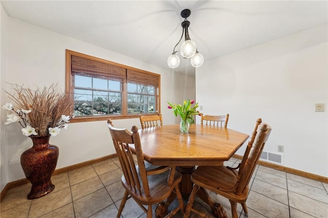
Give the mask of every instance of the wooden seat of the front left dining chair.
M 141 175 L 139 174 L 138 166 L 136 166 L 138 177 L 141 181 Z M 126 188 L 132 198 L 137 198 L 141 204 L 144 205 L 153 205 L 159 202 L 164 201 L 169 197 L 174 187 L 181 181 L 181 173 L 176 171 L 173 179 L 173 184 L 168 186 L 168 178 L 169 171 L 148 176 L 148 185 L 149 185 L 149 193 L 150 195 L 147 197 L 144 188 L 141 188 L 141 193 L 139 191 L 135 191 L 133 187 L 131 187 L 124 176 L 122 176 L 121 181 L 122 185 Z M 142 184 L 140 184 L 142 187 Z

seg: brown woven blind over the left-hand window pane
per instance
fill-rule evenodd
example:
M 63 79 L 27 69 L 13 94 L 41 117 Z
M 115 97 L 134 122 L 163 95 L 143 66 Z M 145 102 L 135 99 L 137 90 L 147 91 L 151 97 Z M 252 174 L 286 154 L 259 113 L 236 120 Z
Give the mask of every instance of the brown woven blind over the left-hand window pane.
M 72 75 L 90 76 L 124 82 L 126 69 L 72 55 Z

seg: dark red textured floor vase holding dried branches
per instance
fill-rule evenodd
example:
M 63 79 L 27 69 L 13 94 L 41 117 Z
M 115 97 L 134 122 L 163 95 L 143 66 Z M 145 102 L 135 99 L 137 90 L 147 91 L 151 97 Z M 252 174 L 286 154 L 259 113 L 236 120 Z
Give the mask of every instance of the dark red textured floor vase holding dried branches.
M 32 139 L 33 146 L 20 156 L 20 165 L 26 178 L 32 184 L 27 198 L 36 199 L 55 188 L 55 185 L 51 183 L 51 175 L 57 165 L 59 149 L 49 144 L 50 135 L 29 137 Z

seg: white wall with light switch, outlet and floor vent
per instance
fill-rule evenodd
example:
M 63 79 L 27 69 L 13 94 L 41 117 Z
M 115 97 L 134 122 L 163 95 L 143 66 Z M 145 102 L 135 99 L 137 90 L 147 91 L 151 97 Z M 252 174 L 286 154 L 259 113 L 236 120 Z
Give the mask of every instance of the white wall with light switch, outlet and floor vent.
M 283 145 L 284 166 L 328 177 L 327 49 L 323 25 L 206 61 L 196 100 L 204 114 L 229 113 L 228 127 L 243 133 L 262 118 L 273 129 L 264 150 Z

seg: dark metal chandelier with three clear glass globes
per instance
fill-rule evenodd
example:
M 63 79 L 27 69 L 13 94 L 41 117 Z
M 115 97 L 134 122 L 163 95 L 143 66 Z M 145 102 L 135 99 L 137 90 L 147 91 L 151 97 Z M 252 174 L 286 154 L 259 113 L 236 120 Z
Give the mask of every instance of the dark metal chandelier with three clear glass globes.
M 182 35 L 178 43 L 173 48 L 172 55 L 168 58 L 168 65 L 170 68 L 177 68 L 180 65 L 180 58 L 175 53 L 180 52 L 183 58 L 191 58 L 191 65 L 195 68 L 202 66 L 204 62 L 204 57 L 202 54 L 198 53 L 196 43 L 190 39 L 188 33 L 188 27 L 190 26 L 190 22 L 187 20 L 187 17 L 190 16 L 191 11 L 189 9 L 185 9 L 181 11 L 181 17 L 185 18 L 181 23 L 182 27 Z M 183 34 L 185 35 L 185 41 L 181 44 L 180 51 L 175 51 L 175 48 L 179 45 Z

